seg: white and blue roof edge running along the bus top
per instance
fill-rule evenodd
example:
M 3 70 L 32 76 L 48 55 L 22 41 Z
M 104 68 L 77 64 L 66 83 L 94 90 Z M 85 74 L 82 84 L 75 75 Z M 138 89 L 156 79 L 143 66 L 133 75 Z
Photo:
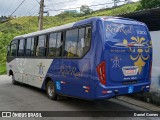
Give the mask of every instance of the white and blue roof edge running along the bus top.
M 101 16 L 101 17 L 91 17 L 88 19 L 84 19 L 78 22 L 73 22 L 73 23 L 69 23 L 69 24 L 65 24 L 65 25 L 61 25 L 61 26 L 56 26 L 56 27 L 52 27 L 49 29 L 45 29 L 45 30 L 40 30 L 40 31 L 36 31 L 36 32 L 32 32 L 29 34 L 24 34 L 24 35 L 20 35 L 20 36 L 16 36 L 14 37 L 14 39 L 21 39 L 21 38 L 26 38 L 26 37 L 31 37 L 31 36 L 37 36 L 37 35 L 42 35 L 42 34 L 46 34 L 46 33 L 50 33 L 50 32 L 54 32 L 54 31 L 60 31 L 60 30 L 64 30 L 64 29 L 68 29 L 68 28 L 73 28 L 76 26 L 82 26 L 82 25 L 86 25 L 86 24 L 91 24 L 91 22 L 96 21 L 96 20 L 130 20 L 133 24 L 143 24 L 142 22 L 133 20 L 133 19 L 129 19 L 129 18 L 123 18 L 123 17 L 113 17 L 113 16 Z

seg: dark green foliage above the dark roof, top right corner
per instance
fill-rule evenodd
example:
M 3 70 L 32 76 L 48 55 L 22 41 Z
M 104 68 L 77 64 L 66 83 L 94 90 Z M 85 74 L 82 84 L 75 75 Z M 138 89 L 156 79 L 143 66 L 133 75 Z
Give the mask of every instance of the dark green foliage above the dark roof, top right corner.
M 141 0 L 141 6 L 145 9 L 160 7 L 160 0 Z

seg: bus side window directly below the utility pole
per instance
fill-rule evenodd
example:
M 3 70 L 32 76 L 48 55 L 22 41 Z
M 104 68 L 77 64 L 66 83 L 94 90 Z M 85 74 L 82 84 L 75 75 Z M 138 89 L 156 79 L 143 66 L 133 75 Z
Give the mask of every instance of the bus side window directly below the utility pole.
M 36 48 L 36 56 L 45 56 L 46 51 L 46 35 L 38 37 L 38 45 Z

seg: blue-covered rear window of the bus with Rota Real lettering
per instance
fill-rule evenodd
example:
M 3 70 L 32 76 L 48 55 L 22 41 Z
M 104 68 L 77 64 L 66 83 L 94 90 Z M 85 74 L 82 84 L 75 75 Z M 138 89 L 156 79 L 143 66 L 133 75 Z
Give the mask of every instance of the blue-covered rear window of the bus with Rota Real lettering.
M 148 47 L 150 37 L 145 26 L 106 22 L 106 40 L 110 46 L 125 47 L 128 44 Z

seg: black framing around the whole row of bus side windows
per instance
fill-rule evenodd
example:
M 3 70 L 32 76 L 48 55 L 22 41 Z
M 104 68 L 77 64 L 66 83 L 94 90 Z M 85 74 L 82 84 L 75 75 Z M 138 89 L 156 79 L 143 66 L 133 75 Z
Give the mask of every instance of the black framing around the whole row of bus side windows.
M 85 28 L 85 31 L 86 31 L 86 27 L 90 27 L 91 28 L 91 37 L 90 37 L 90 45 L 89 45 L 89 49 L 86 51 L 86 53 L 85 54 L 83 54 L 81 57 L 69 57 L 69 58 L 67 58 L 67 57 L 64 57 L 63 56 L 63 50 L 64 50 L 64 44 L 65 44 L 65 40 L 66 40 L 66 31 L 67 30 L 71 30 L 71 29 L 78 29 L 78 37 L 79 37 L 79 29 L 80 28 Z M 51 32 L 46 32 L 46 33 L 43 33 L 43 34 L 37 34 L 37 35 L 31 35 L 31 36 L 28 36 L 28 37 L 23 37 L 23 38 L 20 38 L 20 39 L 13 39 L 12 41 L 14 41 L 14 40 L 18 40 L 18 46 L 17 46 L 17 52 L 16 52 L 16 56 L 14 56 L 14 57 L 16 57 L 16 58 L 39 58 L 39 59 L 83 59 L 83 57 L 90 51 L 90 49 L 91 49 L 91 44 L 92 44 L 92 28 L 93 28 L 93 24 L 92 23 L 89 23 L 89 24 L 83 24 L 83 25 L 79 25 L 79 26 L 73 26 L 73 27 L 70 27 L 70 28 L 67 28 L 67 29 L 61 29 L 61 30 L 55 30 L 55 31 L 51 31 Z M 63 35 L 63 44 L 62 44 L 62 50 L 61 50 L 61 56 L 59 56 L 59 57 L 57 57 L 57 56 L 54 56 L 54 57 L 49 57 L 48 56 L 48 43 L 49 43 L 49 34 L 51 34 L 51 33 L 59 33 L 59 32 L 61 32 L 62 33 L 62 35 Z M 45 56 L 36 56 L 36 46 L 37 46 L 37 42 L 38 42 L 38 36 L 41 36 L 41 35 L 46 35 L 46 54 L 45 54 Z M 85 36 L 86 36 L 86 32 L 85 32 Z M 17 56 L 17 54 L 18 54 L 18 47 L 19 47 L 19 40 L 21 40 L 21 39 L 24 39 L 24 40 L 26 40 L 27 38 L 34 38 L 34 45 L 36 45 L 36 46 L 34 46 L 34 56 Z M 11 43 L 12 43 L 12 41 L 10 42 L 10 45 L 11 45 Z M 57 40 L 56 40 L 56 43 L 57 43 Z M 26 47 L 26 44 L 25 44 L 25 46 L 24 47 Z M 25 50 L 25 48 L 24 48 L 24 50 Z

